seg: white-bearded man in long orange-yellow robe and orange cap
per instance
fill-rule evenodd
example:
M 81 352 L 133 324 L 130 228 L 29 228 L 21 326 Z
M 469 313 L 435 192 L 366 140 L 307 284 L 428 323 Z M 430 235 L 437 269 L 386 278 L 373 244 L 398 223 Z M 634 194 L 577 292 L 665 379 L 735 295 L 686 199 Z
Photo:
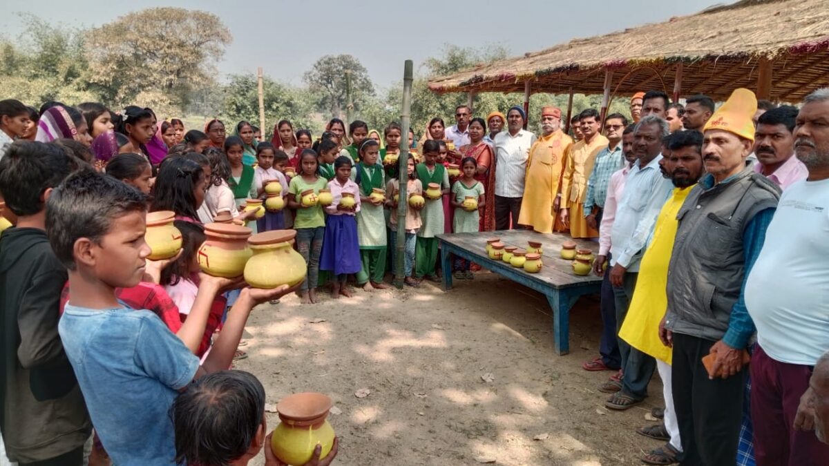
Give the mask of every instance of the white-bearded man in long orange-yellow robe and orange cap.
M 573 139 L 561 131 L 561 110 L 541 109 L 541 137 L 530 148 L 526 161 L 524 198 L 518 223 L 541 233 L 553 231 L 553 201 L 559 192 L 564 156 Z

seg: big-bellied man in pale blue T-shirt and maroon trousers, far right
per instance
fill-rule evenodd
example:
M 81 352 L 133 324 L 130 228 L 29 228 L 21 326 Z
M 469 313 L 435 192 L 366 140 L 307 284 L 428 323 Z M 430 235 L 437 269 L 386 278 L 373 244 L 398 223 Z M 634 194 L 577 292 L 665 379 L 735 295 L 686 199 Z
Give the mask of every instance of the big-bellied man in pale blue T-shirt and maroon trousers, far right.
M 778 110 L 760 116 L 758 131 Z M 795 124 L 794 151 L 808 177 L 783 191 L 745 284 L 745 304 L 757 326 L 749 368 L 759 466 L 829 460 L 829 445 L 793 430 L 812 369 L 829 348 L 829 88 L 807 95 Z

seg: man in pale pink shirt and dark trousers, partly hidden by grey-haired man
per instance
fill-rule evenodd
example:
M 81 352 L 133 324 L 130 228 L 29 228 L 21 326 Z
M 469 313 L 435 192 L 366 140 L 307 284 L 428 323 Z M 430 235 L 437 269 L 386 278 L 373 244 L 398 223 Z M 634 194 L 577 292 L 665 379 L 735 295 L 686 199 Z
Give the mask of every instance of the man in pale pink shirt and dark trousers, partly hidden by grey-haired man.
M 628 163 L 610 176 L 608 194 L 604 200 L 604 210 L 599 223 L 599 257 L 594 261 L 595 274 L 599 277 L 604 276 L 600 304 L 602 313 L 602 337 L 599 341 L 600 356 L 593 361 L 582 362 L 581 366 L 585 371 L 615 371 L 622 364 L 622 356 L 619 354 L 616 338 L 616 306 L 613 298 L 613 287 L 610 285 L 609 274 L 604 273 L 604 260 L 609 260 L 610 231 L 613 230 L 616 205 L 622 199 L 625 176 L 628 174 L 631 164 L 636 160 L 636 155 L 633 153 L 633 124 L 628 125 L 622 133 L 622 153 Z M 617 373 L 611 378 L 618 380 L 620 374 Z

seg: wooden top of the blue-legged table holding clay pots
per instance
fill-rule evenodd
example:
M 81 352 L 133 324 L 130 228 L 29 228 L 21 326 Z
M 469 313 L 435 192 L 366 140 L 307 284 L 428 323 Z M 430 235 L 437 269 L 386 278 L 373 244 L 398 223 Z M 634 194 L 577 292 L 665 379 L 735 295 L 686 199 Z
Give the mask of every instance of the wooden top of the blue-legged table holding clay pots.
M 555 289 L 570 288 L 585 284 L 601 284 L 601 277 L 595 274 L 579 276 L 573 273 L 570 260 L 561 259 L 561 244 L 566 240 L 573 240 L 566 233 L 538 233 L 529 230 L 506 231 L 478 231 L 474 233 L 451 233 L 438 235 L 439 240 L 475 255 L 475 262 L 487 269 L 497 269 L 499 266 L 512 269 L 526 275 L 526 279 L 538 280 Z M 541 261 L 544 267 L 537 274 L 528 274 L 523 269 L 516 269 L 502 260 L 492 260 L 487 256 L 487 239 L 500 238 L 506 246 L 516 246 L 526 249 L 528 241 L 540 242 L 544 251 Z M 594 255 L 599 252 L 599 243 L 591 240 L 574 240 L 578 249 L 592 250 Z

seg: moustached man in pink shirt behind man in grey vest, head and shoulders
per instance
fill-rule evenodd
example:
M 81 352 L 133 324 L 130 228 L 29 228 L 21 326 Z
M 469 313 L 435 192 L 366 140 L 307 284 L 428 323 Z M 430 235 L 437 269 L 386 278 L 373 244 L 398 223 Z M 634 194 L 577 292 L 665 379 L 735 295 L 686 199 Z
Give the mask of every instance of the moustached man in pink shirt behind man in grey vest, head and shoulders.
M 806 165 L 794 157 L 794 120 L 797 108 L 781 105 L 761 114 L 754 132 L 754 155 L 758 172 L 785 191 L 793 182 L 805 180 Z

